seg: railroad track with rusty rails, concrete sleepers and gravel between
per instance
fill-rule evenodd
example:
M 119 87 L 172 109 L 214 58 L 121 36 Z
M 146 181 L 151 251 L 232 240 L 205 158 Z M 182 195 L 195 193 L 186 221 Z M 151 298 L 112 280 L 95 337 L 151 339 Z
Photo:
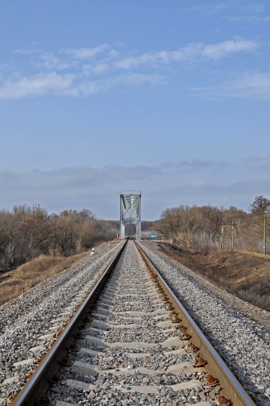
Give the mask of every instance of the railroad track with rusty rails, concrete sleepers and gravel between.
M 255 405 L 130 240 L 11 404 Z

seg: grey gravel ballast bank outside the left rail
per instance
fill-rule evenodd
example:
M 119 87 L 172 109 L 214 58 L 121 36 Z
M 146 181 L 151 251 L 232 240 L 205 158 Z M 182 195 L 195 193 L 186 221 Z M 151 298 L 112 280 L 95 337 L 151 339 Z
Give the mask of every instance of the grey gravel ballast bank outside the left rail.
M 124 242 L 99 245 L 68 269 L 0 307 L 0 404 L 24 385 L 34 361 L 45 354 Z

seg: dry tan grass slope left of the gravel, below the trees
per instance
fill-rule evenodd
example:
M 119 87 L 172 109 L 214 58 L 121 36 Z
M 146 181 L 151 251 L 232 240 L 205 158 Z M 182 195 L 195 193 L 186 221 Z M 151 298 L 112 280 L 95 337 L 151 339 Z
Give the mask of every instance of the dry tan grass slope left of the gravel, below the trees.
M 16 298 L 37 283 L 56 275 L 84 258 L 88 251 L 69 256 L 41 255 L 20 266 L 15 271 L 0 275 L 0 305 Z

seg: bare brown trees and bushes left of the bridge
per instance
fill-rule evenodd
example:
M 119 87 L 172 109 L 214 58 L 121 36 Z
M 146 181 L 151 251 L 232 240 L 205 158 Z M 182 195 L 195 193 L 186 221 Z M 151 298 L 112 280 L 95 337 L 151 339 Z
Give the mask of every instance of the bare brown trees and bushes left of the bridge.
M 18 205 L 0 210 L 0 259 L 9 268 L 41 254 L 69 256 L 113 239 L 116 232 L 113 222 L 88 209 L 49 214 L 39 204 Z

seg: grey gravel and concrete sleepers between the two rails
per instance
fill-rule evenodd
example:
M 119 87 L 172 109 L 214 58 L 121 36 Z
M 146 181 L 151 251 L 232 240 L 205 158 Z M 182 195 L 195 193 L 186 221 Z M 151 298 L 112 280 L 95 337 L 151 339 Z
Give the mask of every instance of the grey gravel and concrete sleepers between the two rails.
M 217 406 L 204 367 L 132 241 L 48 390 L 52 406 Z

